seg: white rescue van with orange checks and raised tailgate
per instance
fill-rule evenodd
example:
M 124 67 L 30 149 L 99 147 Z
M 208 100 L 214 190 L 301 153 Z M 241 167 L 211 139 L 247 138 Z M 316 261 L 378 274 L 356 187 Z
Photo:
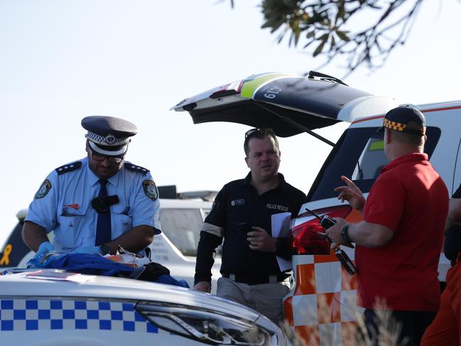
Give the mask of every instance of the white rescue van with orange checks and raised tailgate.
M 172 109 L 189 112 L 195 124 L 228 121 L 269 126 L 283 137 L 306 131 L 332 145 L 305 204 L 292 220 L 295 236 L 315 220 L 306 208 L 320 216 L 343 217 L 349 223 L 362 220 L 359 212 L 337 200 L 334 188 L 344 185 L 340 177 L 346 175 L 368 195 L 381 167 L 387 163 L 383 132 L 378 134 L 376 129 L 384 114 L 397 106 L 394 99 L 376 97 L 348 87 L 335 77 L 310 72 L 307 77 L 281 73 L 252 75 L 185 99 Z M 451 195 L 461 183 L 461 101 L 422 104 L 418 109 L 427 121 L 425 152 Z M 340 121 L 350 126 L 336 144 L 312 131 Z M 342 249 L 354 259 L 353 249 Z M 304 252 L 293 256 L 292 262 L 295 285 L 284 299 L 286 321 L 308 345 L 342 345 L 345 330 L 357 316 L 354 276 L 342 269 L 333 252 Z M 441 253 L 441 283 L 449 267 Z M 320 301 L 326 303 L 319 304 Z

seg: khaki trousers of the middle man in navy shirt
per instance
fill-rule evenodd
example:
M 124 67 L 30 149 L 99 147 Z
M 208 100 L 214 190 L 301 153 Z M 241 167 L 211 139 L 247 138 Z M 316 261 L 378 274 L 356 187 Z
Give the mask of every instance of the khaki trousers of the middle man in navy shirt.
M 288 280 L 250 286 L 219 278 L 216 295 L 248 306 L 278 324 L 283 321 L 283 297 L 288 291 Z

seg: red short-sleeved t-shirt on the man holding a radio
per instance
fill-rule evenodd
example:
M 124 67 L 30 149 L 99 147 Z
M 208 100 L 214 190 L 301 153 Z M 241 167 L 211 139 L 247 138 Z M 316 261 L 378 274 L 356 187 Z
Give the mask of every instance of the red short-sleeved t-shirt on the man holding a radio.
M 435 311 L 440 305 L 438 261 L 448 213 L 448 190 L 425 153 L 396 158 L 371 187 L 364 220 L 389 227 L 382 247 L 357 245 L 359 305 Z

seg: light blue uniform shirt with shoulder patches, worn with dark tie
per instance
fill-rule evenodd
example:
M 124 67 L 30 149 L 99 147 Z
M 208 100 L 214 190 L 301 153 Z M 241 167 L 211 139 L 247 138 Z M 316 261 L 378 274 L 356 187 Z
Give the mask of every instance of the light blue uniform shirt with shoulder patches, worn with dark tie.
M 26 221 L 44 227 L 47 233 L 54 231 L 53 244 L 58 251 L 71 252 L 94 245 L 97 212 L 91 201 L 99 193 L 98 180 L 88 158 L 57 168 L 40 186 Z M 107 180 L 107 195 L 119 196 L 119 202 L 110 207 L 112 239 L 140 225 L 161 229 L 160 202 L 151 173 L 126 162 Z

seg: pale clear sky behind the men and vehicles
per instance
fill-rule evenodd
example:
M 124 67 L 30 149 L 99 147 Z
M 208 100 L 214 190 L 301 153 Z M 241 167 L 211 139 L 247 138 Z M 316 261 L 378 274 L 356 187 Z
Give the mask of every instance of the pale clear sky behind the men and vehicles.
M 128 159 L 149 168 L 157 185 L 218 190 L 246 175 L 247 126 L 193 125 L 168 109 L 225 82 L 303 73 L 320 61 L 261 30 L 259 1 L 235 3 L 0 0 L 0 246 L 45 176 L 85 156 L 87 115 L 133 121 L 139 134 Z M 400 102 L 460 99 L 460 13 L 456 0 L 425 1 L 408 43 L 385 67 L 345 82 Z M 345 75 L 339 61 L 322 72 Z M 342 129 L 319 132 L 335 141 Z M 307 134 L 282 139 L 281 172 L 307 192 L 329 150 Z

